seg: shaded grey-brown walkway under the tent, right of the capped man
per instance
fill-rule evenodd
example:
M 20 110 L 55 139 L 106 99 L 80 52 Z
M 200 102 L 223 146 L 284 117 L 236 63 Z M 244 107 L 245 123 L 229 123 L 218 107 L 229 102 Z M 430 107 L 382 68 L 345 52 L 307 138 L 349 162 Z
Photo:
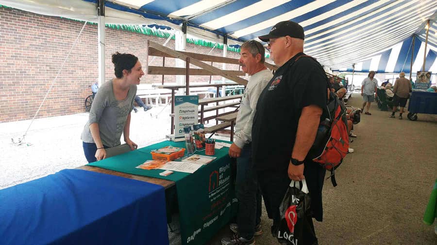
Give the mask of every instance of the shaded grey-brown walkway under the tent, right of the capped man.
M 358 93 L 349 105 L 359 108 Z M 323 222 L 315 222 L 320 245 L 436 245 L 434 226 L 424 225 L 423 213 L 437 178 L 437 116 L 419 114 L 417 122 L 388 118 L 376 104 L 371 116 L 355 125 L 358 135 L 342 166 L 337 187 L 323 187 Z M 258 245 L 277 244 L 263 206 L 264 234 Z M 222 229 L 211 244 L 229 235 Z

